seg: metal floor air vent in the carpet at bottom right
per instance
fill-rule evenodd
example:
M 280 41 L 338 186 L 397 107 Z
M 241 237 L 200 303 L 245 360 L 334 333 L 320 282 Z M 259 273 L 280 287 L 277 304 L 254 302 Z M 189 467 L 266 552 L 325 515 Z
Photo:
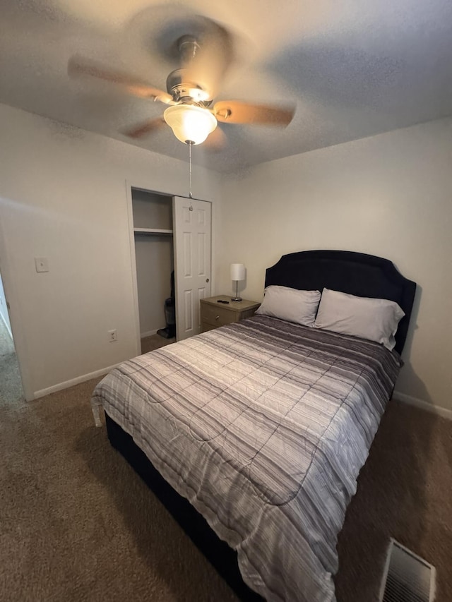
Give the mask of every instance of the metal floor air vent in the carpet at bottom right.
M 435 567 L 391 539 L 380 602 L 433 602 L 435 579 Z

